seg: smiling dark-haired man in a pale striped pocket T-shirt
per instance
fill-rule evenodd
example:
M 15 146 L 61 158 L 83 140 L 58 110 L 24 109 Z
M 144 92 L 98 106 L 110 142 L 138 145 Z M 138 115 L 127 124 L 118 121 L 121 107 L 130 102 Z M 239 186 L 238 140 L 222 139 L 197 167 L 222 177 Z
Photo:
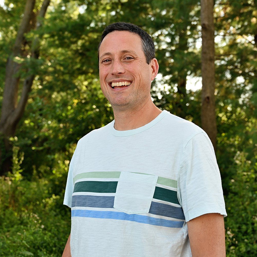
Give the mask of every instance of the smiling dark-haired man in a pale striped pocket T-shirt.
M 111 24 L 98 59 L 115 119 L 82 137 L 72 156 L 63 256 L 225 256 L 212 143 L 197 125 L 153 104 L 159 66 L 151 37 L 134 24 Z

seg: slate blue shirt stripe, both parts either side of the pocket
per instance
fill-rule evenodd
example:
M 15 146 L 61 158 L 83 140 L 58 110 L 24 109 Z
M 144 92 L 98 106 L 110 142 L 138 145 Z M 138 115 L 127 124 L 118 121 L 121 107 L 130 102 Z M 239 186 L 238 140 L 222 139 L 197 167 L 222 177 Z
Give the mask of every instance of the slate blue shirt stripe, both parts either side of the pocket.
M 73 195 L 71 207 L 113 208 L 114 196 Z M 183 209 L 168 204 L 152 202 L 149 213 L 175 219 L 185 219 Z

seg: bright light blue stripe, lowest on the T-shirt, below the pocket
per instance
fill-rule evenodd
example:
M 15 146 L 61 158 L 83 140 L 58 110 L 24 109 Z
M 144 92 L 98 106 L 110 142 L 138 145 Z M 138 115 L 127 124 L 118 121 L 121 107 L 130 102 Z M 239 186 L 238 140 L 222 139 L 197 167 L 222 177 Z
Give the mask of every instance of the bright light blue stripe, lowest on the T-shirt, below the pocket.
M 89 217 L 100 219 L 121 219 L 126 221 L 135 221 L 162 227 L 183 227 L 183 221 L 168 221 L 167 219 L 158 219 L 139 214 L 127 214 L 124 212 L 105 212 L 97 210 L 71 210 L 71 217 Z

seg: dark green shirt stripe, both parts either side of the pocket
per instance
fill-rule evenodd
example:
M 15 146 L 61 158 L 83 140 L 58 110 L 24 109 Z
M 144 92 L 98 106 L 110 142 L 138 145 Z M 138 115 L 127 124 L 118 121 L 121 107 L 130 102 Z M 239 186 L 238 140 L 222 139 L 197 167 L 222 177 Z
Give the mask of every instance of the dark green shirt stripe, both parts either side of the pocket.
M 115 193 L 118 181 L 80 181 L 75 183 L 73 192 L 95 192 L 95 193 Z M 177 192 L 155 187 L 153 198 L 179 204 Z

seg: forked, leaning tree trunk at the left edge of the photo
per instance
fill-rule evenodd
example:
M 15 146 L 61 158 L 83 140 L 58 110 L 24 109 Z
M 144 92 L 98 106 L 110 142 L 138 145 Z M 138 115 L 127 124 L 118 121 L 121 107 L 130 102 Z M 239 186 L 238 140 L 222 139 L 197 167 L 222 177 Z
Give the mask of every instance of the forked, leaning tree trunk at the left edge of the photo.
M 20 100 L 19 103 L 17 103 L 20 76 L 15 77 L 15 74 L 20 70 L 22 64 L 17 63 L 14 60 L 15 57 L 27 58 L 27 55 L 30 55 L 30 58 L 38 59 L 38 37 L 35 37 L 32 42 L 28 42 L 26 41 L 24 34 L 33 29 L 38 29 L 38 27 L 42 25 L 41 19 L 37 21 L 37 16 L 43 18 L 49 4 L 50 0 L 44 0 L 40 11 L 35 13 L 33 11 L 35 0 L 27 0 L 24 16 L 17 32 L 13 51 L 7 60 L 0 120 L 0 176 L 5 175 L 11 169 L 12 143 L 9 138 L 15 135 L 17 124 L 24 113 L 32 82 L 35 77 L 33 74 L 24 79 Z M 25 50 L 27 44 L 30 46 L 29 52 Z M 28 72 L 28 74 L 31 74 L 30 70 L 28 70 Z

